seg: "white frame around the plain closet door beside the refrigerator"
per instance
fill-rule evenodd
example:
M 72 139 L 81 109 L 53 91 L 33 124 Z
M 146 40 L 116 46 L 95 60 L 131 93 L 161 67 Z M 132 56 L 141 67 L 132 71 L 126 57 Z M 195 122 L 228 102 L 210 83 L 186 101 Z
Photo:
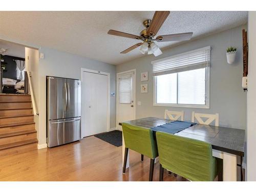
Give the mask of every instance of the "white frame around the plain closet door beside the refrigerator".
M 81 95 L 82 95 L 82 74 L 83 74 L 83 72 L 102 74 L 102 75 L 106 75 L 108 77 L 108 95 L 107 95 L 108 103 L 107 103 L 106 131 L 109 132 L 110 131 L 110 73 L 81 68 Z M 81 105 L 82 105 L 82 99 L 81 99 Z M 81 114 L 81 117 L 82 117 L 82 114 Z M 81 121 L 81 127 L 82 127 L 82 121 Z

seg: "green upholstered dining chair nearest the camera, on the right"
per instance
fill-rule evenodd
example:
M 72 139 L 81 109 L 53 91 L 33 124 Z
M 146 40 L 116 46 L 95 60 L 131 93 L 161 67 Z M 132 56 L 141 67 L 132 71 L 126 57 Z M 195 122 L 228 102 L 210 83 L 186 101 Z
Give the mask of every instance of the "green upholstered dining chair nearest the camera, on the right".
M 196 139 L 156 132 L 159 152 L 159 181 L 164 168 L 190 181 L 222 180 L 222 159 L 212 157 L 211 144 Z

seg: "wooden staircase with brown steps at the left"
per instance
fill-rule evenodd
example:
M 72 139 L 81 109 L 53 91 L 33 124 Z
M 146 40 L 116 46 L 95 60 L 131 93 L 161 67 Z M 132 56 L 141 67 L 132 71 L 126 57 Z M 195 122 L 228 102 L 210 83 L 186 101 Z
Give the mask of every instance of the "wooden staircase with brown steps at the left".
M 0 157 L 36 148 L 31 96 L 0 94 Z

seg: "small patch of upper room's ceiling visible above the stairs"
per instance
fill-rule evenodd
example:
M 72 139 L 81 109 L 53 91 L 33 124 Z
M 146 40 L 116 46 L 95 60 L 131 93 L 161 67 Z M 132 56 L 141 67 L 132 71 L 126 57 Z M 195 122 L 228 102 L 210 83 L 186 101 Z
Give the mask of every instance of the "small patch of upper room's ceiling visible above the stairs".
M 0 48 L 8 49 L 7 55 L 25 58 L 25 47 L 0 39 Z

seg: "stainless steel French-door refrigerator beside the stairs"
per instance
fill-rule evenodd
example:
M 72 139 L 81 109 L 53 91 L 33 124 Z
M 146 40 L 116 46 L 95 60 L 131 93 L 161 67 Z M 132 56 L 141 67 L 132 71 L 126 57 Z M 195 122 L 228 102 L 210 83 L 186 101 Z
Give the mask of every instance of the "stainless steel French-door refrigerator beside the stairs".
M 47 146 L 81 139 L 81 81 L 47 77 Z

